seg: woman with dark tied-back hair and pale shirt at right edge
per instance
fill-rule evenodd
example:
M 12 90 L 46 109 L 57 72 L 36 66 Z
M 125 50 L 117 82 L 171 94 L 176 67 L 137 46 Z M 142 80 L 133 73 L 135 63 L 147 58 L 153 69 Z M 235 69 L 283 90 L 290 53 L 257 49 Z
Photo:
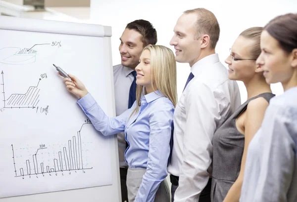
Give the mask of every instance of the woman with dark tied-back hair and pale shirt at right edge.
M 267 83 L 281 82 L 250 142 L 241 202 L 297 202 L 297 13 L 271 20 L 256 63 Z

